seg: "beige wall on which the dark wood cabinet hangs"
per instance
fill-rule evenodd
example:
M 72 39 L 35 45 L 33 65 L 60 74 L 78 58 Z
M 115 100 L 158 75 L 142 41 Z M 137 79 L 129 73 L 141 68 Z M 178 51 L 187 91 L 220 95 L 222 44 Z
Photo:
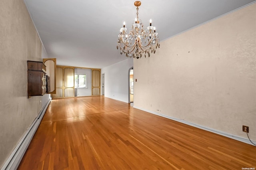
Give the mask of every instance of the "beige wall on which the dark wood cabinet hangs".
M 42 44 L 23 0 L 0 1 L 0 167 L 41 109 L 27 98 L 27 60 L 42 61 Z

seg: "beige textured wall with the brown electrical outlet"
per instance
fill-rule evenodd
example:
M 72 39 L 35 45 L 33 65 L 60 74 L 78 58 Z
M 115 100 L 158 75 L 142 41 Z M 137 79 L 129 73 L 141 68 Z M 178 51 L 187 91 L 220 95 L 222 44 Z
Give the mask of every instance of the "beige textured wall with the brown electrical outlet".
M 134 107 L 256 140 L 255 34 L 253 4 L 161 42 L 134 60 Z

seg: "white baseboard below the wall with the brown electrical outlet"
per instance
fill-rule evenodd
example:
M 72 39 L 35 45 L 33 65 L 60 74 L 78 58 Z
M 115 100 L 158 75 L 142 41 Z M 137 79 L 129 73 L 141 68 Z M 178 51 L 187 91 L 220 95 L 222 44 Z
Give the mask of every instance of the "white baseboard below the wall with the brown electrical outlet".
M 209 128 L 209 127 L 205 127 L 205 126 L 202 126 L 202 125 L 198 125 L 198 124 L 195 124 L 195 123 L 190 123 L 188 121 L 185 121 L 183 119 L 177 119 L 177 118 L 174 118 L 174 117 L 170 117 L 170 116 L 167 116 L 167 115 L 162 115 L 160 113 L 157 113 L 157 112 L 154 112 L 154 111 L 150 111 L 150 110 L 146 110 L 146 109 L 142 109 L 140 107 L 136 107 L 136 106 L 133 106 L 133 108 L 135 109 L 139 109 L 139 110 L 142 110 L 142 111 L 145 111 L 145 112 L 148 112 L 148 113 L 152 113 L 154 115 L 158 115 L 158 116 L 161 116 L 161 117 L 165 117 L 167 119 L 171 119 L 173 121 L 177 121 L 177 122 L 180 122 L 180 123 L 184 123 L 186 125 L 190 125 L 192 127 L 196 127 L 196 128 L 200 128 L 200 129 L 203 129 L 203 130 L 207 130 L 209 132 L 213 132 L 213 133 L 216 133 L 216 134 L 220 134 L 222 136 L 226 136 L 228 138 L 232 138 L 234 140 L 238 140 L 240 142 L 244 142 L 244 143 L 247 143 L 247 144 L 251 144 L 253 145 L 249 139 L 246 139 L 246 138 L 242 138 L 240 136 L 236 136 L 234 134 L 230 134 L 230 133 L 227 133 L 227 132 L 223 132 L 223 131 L 220 131 L 220 130 L 216 130 L 214 128 Z M 252 140 L 252 142 L 256 143 L 256 141 Z

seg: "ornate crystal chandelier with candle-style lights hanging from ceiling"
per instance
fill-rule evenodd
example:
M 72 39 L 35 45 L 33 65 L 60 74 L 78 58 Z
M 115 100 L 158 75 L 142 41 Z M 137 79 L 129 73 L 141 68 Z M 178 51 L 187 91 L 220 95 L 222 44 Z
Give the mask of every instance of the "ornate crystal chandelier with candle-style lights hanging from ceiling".
M 140 1 L 135 1 L 134 5 L 137 7 L 137 17 L 135 23 L 132 24 L 132 28 L 127 33 L 127 28 L 124 26 L 120 29 L 118 35 L 117 46 L 120 48 L 121 55 L 124 53 L 126 57 L 141 58 L 142 56 L 150 57 L 150 53 L 155 53 L 157 47 L 160 47 L 158 33 L 156 28 L 152 26 L 152 20 L 145 30 L 143 23 L 138 17 L 138 6 L 141 5 Z

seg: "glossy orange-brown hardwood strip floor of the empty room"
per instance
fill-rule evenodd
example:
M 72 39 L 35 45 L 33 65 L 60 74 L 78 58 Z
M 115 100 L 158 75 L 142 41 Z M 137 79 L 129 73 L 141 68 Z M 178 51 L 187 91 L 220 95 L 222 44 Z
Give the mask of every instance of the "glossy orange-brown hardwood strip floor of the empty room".
M 241 170 L 256 147 L 106 97 L 54 99 L 19 170 Z

